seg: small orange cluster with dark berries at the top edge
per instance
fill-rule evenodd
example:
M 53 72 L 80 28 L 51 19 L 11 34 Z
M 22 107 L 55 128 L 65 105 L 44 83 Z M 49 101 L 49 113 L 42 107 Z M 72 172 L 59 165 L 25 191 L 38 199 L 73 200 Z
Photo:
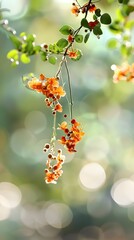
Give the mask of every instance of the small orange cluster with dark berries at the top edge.
M 82 7 L 76 3 L 72 4 L 71 12 L 78 16 L 80 12 L 85 13 L 86 11 L 94 12 L 96 10 L 96 6 L 94 4 L 88 5 L 88 3 L 84 4 Z M 88 9 L 87 9 L 88 8 Z

